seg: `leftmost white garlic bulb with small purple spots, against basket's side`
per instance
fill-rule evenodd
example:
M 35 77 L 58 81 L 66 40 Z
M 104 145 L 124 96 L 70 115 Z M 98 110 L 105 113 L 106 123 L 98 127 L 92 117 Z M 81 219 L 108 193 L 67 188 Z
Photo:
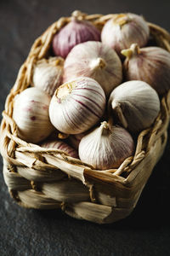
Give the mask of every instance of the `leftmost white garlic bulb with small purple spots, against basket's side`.
M 48 117 L 51 96 L 36 87 L 23 90 L 14 97 L 13 119 L 18 136 L 27 143 L 38 143 L 54 131 Z

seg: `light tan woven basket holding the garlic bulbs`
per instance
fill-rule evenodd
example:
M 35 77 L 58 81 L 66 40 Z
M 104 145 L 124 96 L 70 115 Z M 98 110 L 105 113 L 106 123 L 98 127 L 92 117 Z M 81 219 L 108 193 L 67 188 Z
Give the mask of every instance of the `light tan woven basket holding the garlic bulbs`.
M 113 16 L 78 11 L 74 15 L 91 21 L 99 29 Z M 161 98 L 161 112 L 154 125 L 139 134 L 135 154 L 118 169 L 94 170 L 62 151 L 47 150 L 21 140 L 12 119 L 14 96 L 31 84 L 34 63 L 48 57 L 54 34 L 70 20 L 71 17 L 60 18 L 37 38 L 7 97 L 0 134 L 3 177 L 10 195 L 21 207 L 61 208 L 74 218 L 112 223 L 133 211 L 163 154 L 170 119 L 170 91 Z M 170 51 L 169 33 L 160 26 L 148 24 L 156 45 Z

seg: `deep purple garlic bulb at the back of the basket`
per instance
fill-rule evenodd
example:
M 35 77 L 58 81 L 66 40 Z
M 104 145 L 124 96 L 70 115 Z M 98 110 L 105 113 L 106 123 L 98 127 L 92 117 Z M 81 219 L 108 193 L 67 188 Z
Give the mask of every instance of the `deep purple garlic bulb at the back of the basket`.
M 72 17 L 72 20 L 54 36 L 54 54 L 65 58 L 75 45 L 87 41 L 100 41 L 99 30 L 87 20 Z

